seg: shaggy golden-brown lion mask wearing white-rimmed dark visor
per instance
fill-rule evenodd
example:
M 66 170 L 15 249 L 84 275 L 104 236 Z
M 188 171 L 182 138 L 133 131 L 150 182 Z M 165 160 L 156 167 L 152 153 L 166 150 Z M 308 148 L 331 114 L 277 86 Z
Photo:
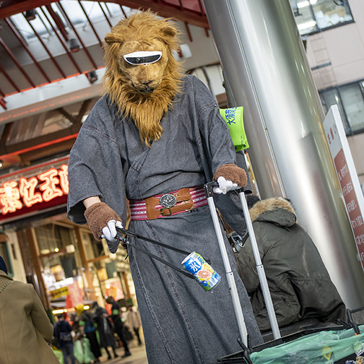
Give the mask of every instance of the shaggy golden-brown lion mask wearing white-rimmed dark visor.
M 160 121 L 180 92 L 181 69 L 173 56 L 177 49 L 176 27 L 151 11 L 119 21 L 105 37 L 104 91 L 134 121 L 147 145 L 159 139 Z

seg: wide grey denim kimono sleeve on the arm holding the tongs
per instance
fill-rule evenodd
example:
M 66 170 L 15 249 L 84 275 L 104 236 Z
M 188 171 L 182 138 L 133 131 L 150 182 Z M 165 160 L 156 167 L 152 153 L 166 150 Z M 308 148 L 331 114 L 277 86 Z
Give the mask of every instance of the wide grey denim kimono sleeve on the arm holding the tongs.
M 75 224 L 86 223 L 83 200 L 92 196 L 98 196 L 126 222 L 126 193 L 114 118 L 103 97 L 87 116 L 70 152 L 67 215 Z

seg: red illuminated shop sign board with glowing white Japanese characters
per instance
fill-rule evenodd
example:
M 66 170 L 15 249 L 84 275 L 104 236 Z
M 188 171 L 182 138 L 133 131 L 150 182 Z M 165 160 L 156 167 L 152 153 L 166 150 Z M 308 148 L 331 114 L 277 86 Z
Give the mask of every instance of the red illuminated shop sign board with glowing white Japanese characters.
M 0 221 L 62 205 L 68 196 L 68 158 L 1 177 Z

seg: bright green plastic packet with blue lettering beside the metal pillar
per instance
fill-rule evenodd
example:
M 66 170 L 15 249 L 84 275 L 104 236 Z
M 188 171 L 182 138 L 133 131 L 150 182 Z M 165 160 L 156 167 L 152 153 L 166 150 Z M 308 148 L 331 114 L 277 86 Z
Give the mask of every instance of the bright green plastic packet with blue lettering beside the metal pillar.
M 233 140 L 233 145 L 236 152 L 249 147 L 243 123 L 243 109 L 243 107 L 219 109 L 220 115 L 223 117 L 224 121 L 226 121 L 226 124 L 229 127 L 231 140 Z

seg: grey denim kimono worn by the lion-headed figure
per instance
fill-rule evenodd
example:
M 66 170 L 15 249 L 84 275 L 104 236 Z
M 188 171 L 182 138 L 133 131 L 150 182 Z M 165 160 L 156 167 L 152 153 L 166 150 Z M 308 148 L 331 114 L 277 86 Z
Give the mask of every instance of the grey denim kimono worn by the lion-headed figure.
M 186 76 L 183 92 L 161 121 L 161 138 L 147 147 L 134 123 L 121 121 L 116 108 L 103 97 L 90 112 L 71 150 L 68 178 L 68 218 L 85 224 L 83 200 L 99 196 L 126 222 L 126 198 L 142 200 L 180 188 L 204 185 L 236 153 L 217 104 L 207 87 Z M 245 222 L 238 195 L 217 196 L 219 210 L 243 233 Z M 208 206 L 154 220 L 134 221 L 128 229 L 210 260 L 222 276 L 205 291 L 196 281 L 139 250 L 128 248 L 131 273 L 142 319 L 148 363 L 216 363 L 241 350 L 231 294 Z M 185 255 L 133 239 L 134 244 L 181 265 Z M 236 273 L 228 241 L 230 264 L 253 346 L 262 338 L 248 295 Z M 182 267 L 182 266 L 181 266 Z

